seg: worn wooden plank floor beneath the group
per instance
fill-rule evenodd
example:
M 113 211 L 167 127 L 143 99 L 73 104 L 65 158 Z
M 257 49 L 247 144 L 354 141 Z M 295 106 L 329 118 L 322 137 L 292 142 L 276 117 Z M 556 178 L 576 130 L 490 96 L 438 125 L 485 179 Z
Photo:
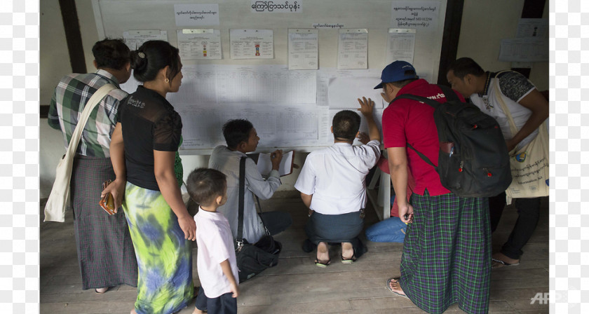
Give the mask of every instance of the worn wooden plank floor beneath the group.
M 400 275 L 402 244 L 367 242 L 368 252 L 349 265 L 339 263 L 339 247 L 332 247 L 332 264 L 318 268 L 313 264 L 315 253 L 300 248 L 306 221 L 302 201 L 276 198 L 263 201 L 262 206 L 290 212 L 294 222 L 276 235 L 283 243 L 278 266 L 240 285 L 238 313 L 424 313 L 385 287 L 388 278 Z M 495 250 L 508 237 L 516 218 L 515 209 L 507 207 L 493 235 Z M 81 289 L 71 213 L 66 221 L 41 222 L 41 313 L 129 313 L 137 296 L 135 288 L 114 287 L 106 294 Z M 367 210 L 366 226 L 376 221 L 376 214 Z M 548 313 L 548 304 L 530 304 L 536 293 L 548 292 L 547 200 L 543 200 L 540 224 L 523 250 L 520 266 L 493 271 L 489 313 Z M 196 247 L 193 257 L 198 285 Z M 194 301 L 180 313 L 192 310 Z M 454 304 L 445 313 L 463 311 Z

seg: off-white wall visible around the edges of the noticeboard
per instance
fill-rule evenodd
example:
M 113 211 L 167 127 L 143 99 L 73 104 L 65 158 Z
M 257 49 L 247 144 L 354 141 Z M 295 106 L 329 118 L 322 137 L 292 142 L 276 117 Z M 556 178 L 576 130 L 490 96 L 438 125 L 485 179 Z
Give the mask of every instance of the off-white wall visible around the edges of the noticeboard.
M 501 39 L 515 36 L 517 20 L 522 12 L 524 0 L 465 0 L 462 29 L 458 47 L 458 57 L 473 57 L 474 60 L 490 71 L 508 69 L 511 64 L 499 62 Z M 312 2 L 306 2 L 311 5 Z M 62 19 L 57 0 L 40 1 L 41 6 L 41 104 L 48 104 L 51 93 L 59 78 L 69 74 L 71 67 L 65 43 Z M 86 55 L 86 67 L 93 71 L 91 48 L 98 40 L 96 23 L 91 1 L 76 0 L 83 34 L 83 49 Z M 548 3 L 544 17 L 548 17 Z M 539 90 L 548 89 L 548 62 L 535 62 L 530 79 Z M 40 197 L 46 198 L 55 179 L 55 166 L 65 152 L 61 132 L 47 125 L 47 119 L 40 121 Z M 299 153 L 295 163 L 303 165 L 306 153 Z M 194 168 L 208 163 L 208 156 L 182 156 L 185 176 Z M 293 191 L 299 170 L 293 175 L 283 177 L 279 191 Z

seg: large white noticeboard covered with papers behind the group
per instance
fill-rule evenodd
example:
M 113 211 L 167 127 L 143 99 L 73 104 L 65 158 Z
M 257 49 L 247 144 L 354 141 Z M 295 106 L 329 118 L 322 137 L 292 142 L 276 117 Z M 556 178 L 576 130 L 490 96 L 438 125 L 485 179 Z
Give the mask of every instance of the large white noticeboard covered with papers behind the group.
M 272 7 L 270 2 L 268 6 L 258 2 L 92 0 L 99 39 L 151 30 L 154 34 L 148 37 L 128 34 L 128 41 L 135 43 L 132 49 L 147 39 L 164 39 L 180 48 L 182 86 L 167 97 L 182 116 L 181 153 L 210 153 L 224 142 L 221 126 L 229 118 L 252 121 L 261 137 L 258 151 L 311 151 L 329 146 L 333 143 L 332 115 L 358 108 L 358 97 L 376 102 L 374 116 L 379 121 L 387 104 L 374 86 L 390 63 L 388 51 L 398 59 L 411 55 L 405 45 L 410 35 L 391 42 L 388 28 L 415 29 L 413 64 L 418 75 L 428 80 L 438 77 L 446 0 L 306 0 L 297 1 L 296 8 L 290 0 L 287 8 L 283 0 L 273 1 Z M 194 16 L 193 22 L 203 24 L 177 25 L 181 11 L 187 11 L 181 14 L 184 17 Z M 412 11 L 428 24 L 389 23 L 393 16 L 415 17 Z M 204 22 L 215 17 L 218 22 Z M 348 32 L 342 38 L 344 26 L 356 29 L 356 34 Z M 93 27 L 83 25 L 83 36 L 87 29 Z M 184 29 L 196 31 L 187 34 Z M 302 36 L 291 29 L 311 32 Z M 340 39 L 348 46 L 340 49 Z M 392 49 L 388 47 L 391 43 Z M 121 87 L 133 93 L 137 85 L 132 78 Z

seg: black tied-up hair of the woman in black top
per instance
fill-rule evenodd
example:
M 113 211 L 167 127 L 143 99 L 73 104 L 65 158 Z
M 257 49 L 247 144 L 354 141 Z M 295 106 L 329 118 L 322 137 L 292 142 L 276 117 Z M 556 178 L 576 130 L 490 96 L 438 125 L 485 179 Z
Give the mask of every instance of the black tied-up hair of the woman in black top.
M 146 41 L 135 51 L 131 51 L 131 69 L 137 81 L 154 81 L 158 72 L 170 66 L 166 78 L 172 78 L 180 72 L 180 55 L 178 48 L 168 41 Z

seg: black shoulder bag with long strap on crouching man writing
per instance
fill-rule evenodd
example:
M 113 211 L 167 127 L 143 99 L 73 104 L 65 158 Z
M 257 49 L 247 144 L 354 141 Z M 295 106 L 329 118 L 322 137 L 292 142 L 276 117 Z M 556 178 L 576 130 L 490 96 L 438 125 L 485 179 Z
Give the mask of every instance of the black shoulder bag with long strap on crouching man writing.
M 266 268 L 276 266 L 278 264 L 278 254 L 282 250 L 282 244 L 274 240 L 269 234 L 264 221 L 264 235 L 255 244 L 248 243 L 248 240 L 243 238 L 243 206 L 245 197 L 245 159 L 242 157 L 239 161 L 239 206 L 238 206 L 238 225 L 236 238 L 236 259 L 237 268 L 239 270 L 239 282 L 244 282 L 255 275 L 261 273 Z M 258 200 L 259 203 L 259 200 Z

